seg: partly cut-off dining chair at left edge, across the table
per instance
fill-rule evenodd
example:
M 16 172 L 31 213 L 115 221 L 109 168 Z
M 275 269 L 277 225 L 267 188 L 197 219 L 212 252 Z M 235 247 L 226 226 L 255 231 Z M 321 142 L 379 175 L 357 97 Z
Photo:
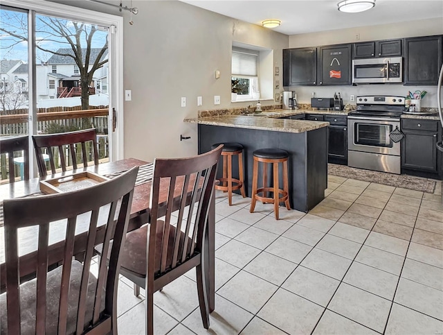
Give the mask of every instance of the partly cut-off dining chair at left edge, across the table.
M 9 137 L 2 139 L 0 137 L 0 154 L 8 154 L 9 182 L 15 182 L 14 153 L 23 151 L 23 178 L 29 179 L 29 138 L 26 136 Z

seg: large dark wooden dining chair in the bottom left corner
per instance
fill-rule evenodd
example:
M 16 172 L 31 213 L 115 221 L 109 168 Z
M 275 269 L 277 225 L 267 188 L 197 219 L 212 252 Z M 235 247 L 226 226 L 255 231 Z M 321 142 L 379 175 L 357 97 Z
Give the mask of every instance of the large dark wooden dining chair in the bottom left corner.
M 3 201 L 6 293 L 0 295 L 1 334 L 116 334 L 119 255 L 137 171 L 135 167 L 77 191 Z M 57 259 L 62 265 L 48 271 L 53 225 L 64 225 L 66 234 Z M 31 226 L 38 234 L 37 275 L 20 284 L 17 237 Z M 82 237 L 75 236 L 79 226 L 85 230 Z M 105 248 L 109 266 L 101 261 L 95 277 L 90 272 L 93 248 L 98 243 L 109 246 L 111 239 L 112 248 Z M 83 263 L 73 259 L 80 252 Z

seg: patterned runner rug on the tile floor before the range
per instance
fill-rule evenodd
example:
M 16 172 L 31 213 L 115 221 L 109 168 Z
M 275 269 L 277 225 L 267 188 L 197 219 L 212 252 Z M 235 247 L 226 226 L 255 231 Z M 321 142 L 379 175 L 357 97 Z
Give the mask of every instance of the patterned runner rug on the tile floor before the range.
M 377 182 L 378 184 L 403 187 L 404 189 L 413 189 L 426 193 L 434 193 L 435 189 L 435 182 L 433 180 L 426 180 L 412 175 L 395 175 L 386 172 L 356 169 L 345 165 L 327 164 L 327 173 L 337 175 L 338 177 L 363 180 L 365 182 Z

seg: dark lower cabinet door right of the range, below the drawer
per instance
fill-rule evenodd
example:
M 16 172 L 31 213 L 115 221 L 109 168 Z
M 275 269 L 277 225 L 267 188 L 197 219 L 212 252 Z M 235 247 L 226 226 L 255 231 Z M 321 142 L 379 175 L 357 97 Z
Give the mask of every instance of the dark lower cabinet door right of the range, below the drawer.
M 403 130 L 401 167 L 437 172 L 437 132 Z

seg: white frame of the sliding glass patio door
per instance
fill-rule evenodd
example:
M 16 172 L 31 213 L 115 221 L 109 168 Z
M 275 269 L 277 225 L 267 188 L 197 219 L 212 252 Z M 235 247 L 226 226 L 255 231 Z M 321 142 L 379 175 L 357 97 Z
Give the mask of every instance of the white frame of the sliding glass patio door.
M 112 109 L 116 108 L 117 111 L 116 131 L 108 132 L 108 135 L 111 136 L 109 141 L 109 160 L 122 160 L 124 158 L 125 147 L 123 133 L 123 17 L 42 0 L 2 0 L 1 4 L 25 10 L 35 10 L 42 15 L 53 15 L 54 17 L 64 17 L 66 19 L 78 20 L 80 22 L 109 26 L 109 69 L 114 69 L 114 71 L 109 72 L 108 78 L 108 89 L 109 92 L 111 92 L 111 94 L 109 94 L 109 124 L 112 124 L 113 121 Z M 35 39 L 33 36 L 30 36 L 29 42 L 31 42 L 29 44 L 29 52 L 33 52 L 35 46 Z M 35 62 L 33 62 L 33 60 L 34 58 L 29 58 L 28 60 L 32 65 L 32 67 L 28 67 L 30 78 L 33 78 L 36 71 Z M 34 112 L 36 103 L 37 101 L 33 101 Z M 35 122 L 36 121 L 37 120 L 35 120 Z M 32 143 L 30 146 L 32 146 Z M 30 152 L 32 153 L 33 148 L 31 147 L 30 149 Z

